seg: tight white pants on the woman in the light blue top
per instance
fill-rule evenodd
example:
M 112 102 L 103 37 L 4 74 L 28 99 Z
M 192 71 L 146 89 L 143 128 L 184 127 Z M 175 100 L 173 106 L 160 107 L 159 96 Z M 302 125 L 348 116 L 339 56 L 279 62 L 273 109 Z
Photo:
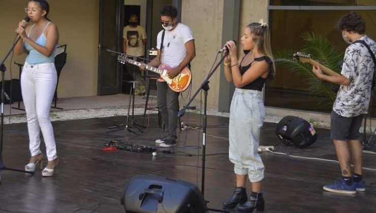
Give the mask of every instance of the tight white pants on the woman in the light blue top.
M 54 63 L 30 65 L 25 62 L 21 74 L 21 91 L 26 110 L 30 154 L 36 156 L 41 153 L 42 130 L 49 161 L 57 158 L 55 138 L 49 119 L 56 82 Z

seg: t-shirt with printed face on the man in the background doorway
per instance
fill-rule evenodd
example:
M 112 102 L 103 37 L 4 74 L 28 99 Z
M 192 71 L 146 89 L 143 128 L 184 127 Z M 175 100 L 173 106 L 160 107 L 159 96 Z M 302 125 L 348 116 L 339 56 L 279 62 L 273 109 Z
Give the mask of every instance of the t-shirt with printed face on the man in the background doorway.
M 142 43 L 143 39 L 146 39 L 145 29 L 137 25 L 137 27 L 125 26 L 123 29 L 123 38 L 127 39 L 127 55 L 143 56 L 145 55 L 145 46 Z

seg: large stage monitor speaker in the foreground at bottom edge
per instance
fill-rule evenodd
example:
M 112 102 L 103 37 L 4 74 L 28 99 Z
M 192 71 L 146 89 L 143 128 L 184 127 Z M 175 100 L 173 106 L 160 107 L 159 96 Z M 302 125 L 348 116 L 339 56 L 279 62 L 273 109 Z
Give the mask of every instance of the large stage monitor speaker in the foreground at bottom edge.
M 127 213 L 207 212 L 196 185 L 152 175 L 134 176 L 123 191 L 121 204 Z

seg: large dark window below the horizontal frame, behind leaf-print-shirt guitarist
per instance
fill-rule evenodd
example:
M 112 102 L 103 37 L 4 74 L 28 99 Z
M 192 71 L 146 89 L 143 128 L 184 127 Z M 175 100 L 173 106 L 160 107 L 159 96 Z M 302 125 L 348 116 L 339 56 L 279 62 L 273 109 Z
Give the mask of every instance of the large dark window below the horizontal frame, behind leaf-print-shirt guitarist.
M 344 53 L 347 44 L 343 41 L 341 32 L 335 26 L 339 18 L 348 13 L 350 11 L 271 10 L 269 20 L 273 53 L 286 49 L 301 50 L 304 46 L 304 40 L 301 38 L 303 32 L 314 32 L 327 38 L 341 53 Z M 358 14 L 366 22 L 368 37 L 376 40 L 376 11 L 358 11 Z M 312 94 L 308 89 L 307 80 L 309 80 L 309 77 L 299 76 L 287 67 L 277 66 L 275 79 L 270 81 L 267 86 L 266 105 L 331 112 L 332 102 L 327 101 L 325 96 Z M 372 108 L 376 109 L 376 101 L 374 100 L 371 102 L 371 115 L 376 117 L 376 110 L 372 110 Z

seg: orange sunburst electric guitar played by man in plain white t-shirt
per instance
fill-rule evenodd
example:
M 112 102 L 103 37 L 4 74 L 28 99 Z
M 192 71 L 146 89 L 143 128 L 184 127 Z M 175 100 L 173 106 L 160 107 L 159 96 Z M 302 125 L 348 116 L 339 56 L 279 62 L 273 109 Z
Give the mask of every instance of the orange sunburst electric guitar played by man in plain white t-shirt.
M 132 60 L 128 58 L 124 54 L 119 54 L 117 57 L 117 61 L 119 61 L 122 64 L 125 63 L 131 63 L 133 65 L 136 65 L 140 67 L 143 63 L 139 61 Z M 145 64 L 146 65 L 146 64 Z M 188 67 L 185 67 L 181 70 L 180 74 L 177 75 L 175 78 L 170 79 L 167 74 L 172 69 L 167 64 L 160 64 L 158 68 L 146 65 L 146 70 L 149 70 L 153 73 L 158 73 L 160 75 L 160 78 L 158 79 L 159 82 L 166 82 L 168 86 L 174 91 L 174 92 L 183 92 L 185 91 L 191 84 L 192 80 L 192 73 L 191 70 Z

